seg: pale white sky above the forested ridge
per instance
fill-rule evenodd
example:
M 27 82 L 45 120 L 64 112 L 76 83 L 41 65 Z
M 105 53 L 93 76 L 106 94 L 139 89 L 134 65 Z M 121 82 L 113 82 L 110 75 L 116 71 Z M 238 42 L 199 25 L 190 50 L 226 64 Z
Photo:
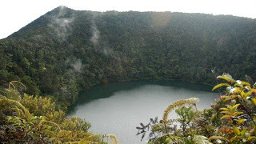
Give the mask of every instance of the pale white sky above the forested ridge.
M 1 0 L 0 39 L 58 6 L 74 10 L 171 11 L 256 18 L 256 0 Z

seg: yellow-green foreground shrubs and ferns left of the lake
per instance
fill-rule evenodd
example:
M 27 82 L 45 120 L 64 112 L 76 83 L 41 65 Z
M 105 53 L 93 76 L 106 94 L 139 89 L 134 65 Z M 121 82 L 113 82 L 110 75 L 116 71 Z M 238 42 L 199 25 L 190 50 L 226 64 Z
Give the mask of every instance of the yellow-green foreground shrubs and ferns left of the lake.
M 21 94 L 24 89 L 14 81 L 0 95 L 1 143 L 118 143 L 115 135 L 90 133 L 90 123 L 81 118 L 65 118 L 66 108 L 60 110 L 53 98 Z

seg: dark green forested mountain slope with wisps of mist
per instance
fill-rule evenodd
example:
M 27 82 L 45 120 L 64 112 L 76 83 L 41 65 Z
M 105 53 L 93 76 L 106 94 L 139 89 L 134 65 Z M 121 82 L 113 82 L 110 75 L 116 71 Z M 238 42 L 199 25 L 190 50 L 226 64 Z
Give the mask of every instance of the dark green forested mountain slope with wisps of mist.
M 0 83 L 18 80 L 28 94 L 73 103 L 107 81 L 255 79 L 255 55 L 255 19 L 59 6 L 0 40 Z

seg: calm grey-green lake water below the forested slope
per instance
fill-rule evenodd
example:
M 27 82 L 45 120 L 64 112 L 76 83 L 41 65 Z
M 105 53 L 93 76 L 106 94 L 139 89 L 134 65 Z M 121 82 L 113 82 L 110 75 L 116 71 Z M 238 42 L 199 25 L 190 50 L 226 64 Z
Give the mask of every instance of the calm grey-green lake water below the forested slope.
M 179 81 L 110 82 L 79 94 L 68 116 L 85 118 L 92 124 L 90 131 L 94 134 L 115 134 L 121 144 L 142 144 L 146 138 L 141 142 L 135 128 L 140 122 L 148 123 L 156 116 L 161 119 L 166 107 L 179 99 L 200 98 L 198 110 L 210 108 L 217 96 L 211 89 L 212 86 Z M 170 114 L 170 118 L 176 116 Z

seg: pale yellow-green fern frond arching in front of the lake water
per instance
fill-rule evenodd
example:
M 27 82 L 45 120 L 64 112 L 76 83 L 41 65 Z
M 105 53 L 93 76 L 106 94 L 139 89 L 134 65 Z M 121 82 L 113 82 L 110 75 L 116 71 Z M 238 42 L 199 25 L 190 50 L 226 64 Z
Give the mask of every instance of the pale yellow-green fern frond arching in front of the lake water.
M 165 112 L 162 115 L 162 120 L 164 122 L 167 122 L 168 114 L 172 110 L 174 110 L 176 107 L 184 106 L 184 105 L 194 105 L 195 103 L 199 102 L 199 98 L 188 98 L 188 99 L 182 99 L 178 100 L 177 102 L 174 102 L 170 106 L 168 106 L 165 110 Z

